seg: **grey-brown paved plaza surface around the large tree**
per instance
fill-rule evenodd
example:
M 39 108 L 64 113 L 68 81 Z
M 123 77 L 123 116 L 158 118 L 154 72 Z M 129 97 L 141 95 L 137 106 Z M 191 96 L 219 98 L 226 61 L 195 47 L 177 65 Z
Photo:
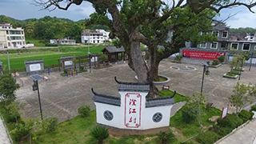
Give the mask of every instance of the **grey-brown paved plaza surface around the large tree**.
M 249 67 L 242 73 L 241 80 L 222 78 L 230 67 L 223 65 L 218 68 L 210 68 L 210 75 L 205 75 L 203 94 L 208 102 L 213 102 L 214 106 L 222 109 L 228 104 L 228 98 L 232 94 L 232 90 L 237 82 L 255 84 L 256 73 L 255 67 L 248 71 Z M 202 64 L 200 62 L 194 64 L 173 63 L 170 59 L 163 60 L 159 66 L 159 74 L 170 77 L 170 89 L 176 90 L 178 93 L 191 95 L 201 90 L 202 84 Z M 119 97 L 114 76 L 119 81 L 136 82 L 135 73 L 130 70 L 129 66 L 124 64 L 114 64 L 111 67 L 95 70 L 91 73 L 84 72 L 73 77 L 63 77 L 59 72 L 53 72 L 47 75 L 50 81 L 40 80 L 39 91 L 42 101 L 42 114 L 44 118 L 57 117 L 59 122 L 67 118 L 74 118 L 78 115 L 77 109 L 82 105 L 89 105 L 95 109 L 92 100 L 93 94 L 91 88 L 94 88 L 99 94 L 115 95 Z M 22 110 L 24 118 L 35 117 L 39 115 L 38 93 L 32 90 L 32 79 L 22 77 L 24 86 L 17 91 L 17 100 L 26 103 Z M 158 86 L 161 89 L 161 86 Z M 234 111 L 231 107 L 230 112 Z

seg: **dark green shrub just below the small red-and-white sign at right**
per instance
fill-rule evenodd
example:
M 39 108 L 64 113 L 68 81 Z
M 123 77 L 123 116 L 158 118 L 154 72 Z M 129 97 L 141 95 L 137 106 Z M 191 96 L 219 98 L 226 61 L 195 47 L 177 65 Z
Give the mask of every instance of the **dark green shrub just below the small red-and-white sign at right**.
M 235 129 L 243 123 L 242 118 L 239 118 L 235 114 L 229 114 L 225 119 L 218 118 L 217 122 L 218 126 L 229 127 L 231 129 Z

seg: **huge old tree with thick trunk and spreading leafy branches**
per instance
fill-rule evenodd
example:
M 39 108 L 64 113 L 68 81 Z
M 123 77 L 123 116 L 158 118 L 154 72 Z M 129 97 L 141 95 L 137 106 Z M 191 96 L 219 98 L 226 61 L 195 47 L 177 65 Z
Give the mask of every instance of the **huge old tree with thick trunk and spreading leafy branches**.
M 158 79 L 158 64 L 163 58 L 177 53 L 186 41 L 213 41 L 210 34 L 200 36 L 198 32 L 210 31 L 215 14 L 232 6 L 246 6 L 250 11 L 255 6 L 255 2 L 229 0 L 34 0 L 36 6 L 48 10 L 68 10 L 82 2 L 92 3 L 96 10 L 86 25 L 110 28 L 110 38 L 122 42 L 130 68 L 139 82 L 150 83 L 150 92 L 154 92 L 153 81 Z M 148 46 L 148 62 L 142 58 L 140 43 Z

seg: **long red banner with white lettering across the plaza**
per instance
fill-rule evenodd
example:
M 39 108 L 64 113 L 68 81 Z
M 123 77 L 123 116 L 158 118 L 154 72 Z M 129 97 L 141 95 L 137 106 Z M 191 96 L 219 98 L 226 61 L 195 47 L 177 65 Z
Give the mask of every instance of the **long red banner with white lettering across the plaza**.
M 220 55 L 226 55 L 223 52 L 210 52 L 210 51 L 196 51 L 196 50 L 182 50 L 183 57 L 199 58 L 199 59 L 217 59 Z

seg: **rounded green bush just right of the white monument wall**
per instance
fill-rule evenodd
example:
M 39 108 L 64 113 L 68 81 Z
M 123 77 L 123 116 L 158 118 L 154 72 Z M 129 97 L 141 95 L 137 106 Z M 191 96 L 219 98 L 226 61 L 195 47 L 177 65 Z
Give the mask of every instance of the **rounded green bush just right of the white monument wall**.
M 185 123 L 194 122 L 198 118 L 198 106 L 187 104 L 182 110 L 182 121 Z

